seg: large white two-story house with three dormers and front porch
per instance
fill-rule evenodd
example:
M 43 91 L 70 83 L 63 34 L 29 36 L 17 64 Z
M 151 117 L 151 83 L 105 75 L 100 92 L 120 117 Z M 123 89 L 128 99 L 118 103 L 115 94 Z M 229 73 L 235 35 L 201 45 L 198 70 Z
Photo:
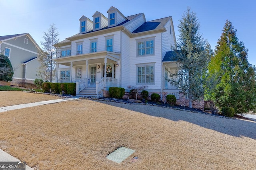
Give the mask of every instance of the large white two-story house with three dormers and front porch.
M 114 7 L 107 13 L 97 11 L 93 20 L 82 16 L 80 32 L 56 44 L 61 54 L 54 59 L 56 82 L 76 82 L 76 96 L 108 96 L 109 87 L 122 87 L 124 98 L 127 86 L 146 85 L 163 101 L 174 94 L 179 104 L 188 104 L 166 81 L 168 72 L 177 69 L 172 17 L 146 21 L 144 13 L 125 17 Z

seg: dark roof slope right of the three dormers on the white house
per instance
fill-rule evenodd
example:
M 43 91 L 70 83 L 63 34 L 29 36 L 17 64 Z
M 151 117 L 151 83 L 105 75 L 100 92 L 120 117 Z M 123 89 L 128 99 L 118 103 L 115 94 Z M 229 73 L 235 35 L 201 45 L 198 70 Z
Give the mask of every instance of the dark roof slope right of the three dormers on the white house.
M 140 33 L 144 31 L 156 30 L 164 28 L 164 25 L 170 20 L 171 17 L 161 18 L 157 20 L 147 21 L 140 25 L 133 33 Z

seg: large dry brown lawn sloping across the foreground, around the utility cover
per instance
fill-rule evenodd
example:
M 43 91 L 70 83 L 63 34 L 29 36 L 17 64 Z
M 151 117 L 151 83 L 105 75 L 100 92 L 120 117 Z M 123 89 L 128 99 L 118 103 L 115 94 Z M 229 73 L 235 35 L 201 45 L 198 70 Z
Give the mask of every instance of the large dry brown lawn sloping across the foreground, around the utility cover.
M 254 134 L 239 129 L 245 136 L 228 135 L 219 129 L 225 129 L 224 125 L 206 128 L 211 121 L 248 123 L 250 128 L 256 123 L 154 106 L 110 104 L 78 99 L 2 112 L 0 148 L 40 170 L 256 169 Z M 178 119 L 146 115 L 133 107 Z M 191 121 L 184 121 L 186 117 Z M 192 123 L 196 117 L 204 124 Z M 121 146 L 136 151 L 120 164 L 106 158 Z M 138 156 L 136 162 L 131 161 L 134 156 Z

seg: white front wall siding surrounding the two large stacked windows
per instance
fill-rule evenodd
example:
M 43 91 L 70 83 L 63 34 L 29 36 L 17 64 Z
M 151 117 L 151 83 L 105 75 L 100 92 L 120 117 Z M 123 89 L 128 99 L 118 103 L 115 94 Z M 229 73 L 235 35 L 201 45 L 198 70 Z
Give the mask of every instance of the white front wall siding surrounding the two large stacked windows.
M 136 57 L 136 39 L 148 38 L 155 36 L 154 42 L 154 52 L 155 55 Z M 136 37 L 131 39 L 130 46 L 130 82 L 128 85 L 136 86 L 136 64 L 141 63 L 154 63 L 154 85 L 148 85 L 147 89 L 160 89 L 161 88 L 161 63 L 162 63 L 162 54 L 161 54 L 161 33 L 156 33 L 148 36 Z

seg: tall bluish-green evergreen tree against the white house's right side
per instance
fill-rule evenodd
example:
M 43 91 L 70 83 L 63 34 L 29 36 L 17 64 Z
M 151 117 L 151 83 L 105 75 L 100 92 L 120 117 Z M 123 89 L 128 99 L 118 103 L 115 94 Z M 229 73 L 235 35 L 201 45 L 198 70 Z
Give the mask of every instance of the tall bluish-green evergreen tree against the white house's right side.
M 178 71 L 170 72 L 168 79 L 180 92 L 188 96 L 190 108 L 192 101 L 201 100 L 204 96 L 203 75 L 210 58 L 210 50 L 204 50 L 207 43 L 200 35 L 199 28 L 196 14 L 188 8 L 178 25 Z

